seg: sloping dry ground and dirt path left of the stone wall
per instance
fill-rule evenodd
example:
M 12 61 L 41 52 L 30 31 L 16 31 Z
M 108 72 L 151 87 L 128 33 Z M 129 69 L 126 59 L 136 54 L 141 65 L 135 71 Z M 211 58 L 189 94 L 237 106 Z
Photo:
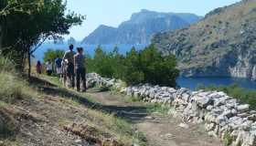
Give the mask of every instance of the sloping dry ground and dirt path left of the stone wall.
M 8 62 L 0 57 L 1 146 L 220 145 L 202 125 L 179 126 L 183 120 L 167 114 L 169 106 L 94 87 L 96 74 L 79 93 L 56 77 L 33 74 L 28 82 Z

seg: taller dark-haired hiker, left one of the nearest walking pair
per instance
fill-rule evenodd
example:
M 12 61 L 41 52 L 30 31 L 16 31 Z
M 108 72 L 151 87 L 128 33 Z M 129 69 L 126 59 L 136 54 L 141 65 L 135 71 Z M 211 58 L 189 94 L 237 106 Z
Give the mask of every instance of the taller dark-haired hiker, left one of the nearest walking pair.
M 74 55 L 75 52 L 73 51 L 74 46 L 69 46 L 69 51 L 65 52 L 63 57 L 63 61 L 67 63 L 66 73 L 67 73 L 67 80 L 69 81 L 68 86 L 69 88 L 75 88 L 75 71 L 74 71 Z

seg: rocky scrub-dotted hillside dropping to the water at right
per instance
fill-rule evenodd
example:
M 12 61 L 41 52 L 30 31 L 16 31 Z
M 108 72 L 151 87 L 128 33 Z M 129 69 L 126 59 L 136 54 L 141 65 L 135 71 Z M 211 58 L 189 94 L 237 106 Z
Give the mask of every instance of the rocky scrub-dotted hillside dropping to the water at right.
M 152 42 L 173 53 L 185 77 L 256 80 L 256 0 L 215 9 L 191 26 L 156 34 Z

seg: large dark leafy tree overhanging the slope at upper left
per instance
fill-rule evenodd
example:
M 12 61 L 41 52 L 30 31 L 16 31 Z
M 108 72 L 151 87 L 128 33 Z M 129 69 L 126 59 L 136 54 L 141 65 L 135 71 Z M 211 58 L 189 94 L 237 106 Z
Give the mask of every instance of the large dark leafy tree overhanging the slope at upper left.
M 2 16 L 0 26 L 5 27 L 2 44 L 7 48 L 2 49 L 3 54 L 12 57 L 20 68 L 24 67 L 27 58 L 29 77 L 30 57 L 36 49 L 48 38 L 55 39 L 69 34 L 69 27 L 80 25 L 85 17 L 73 12 L 66 15 L 66 3 L 62 0 L 26 1 L 42 2 L 43 6 L 36 7 L 37 11 L 35 7 L 28 7 L 27 14 L 14 11 L 8 16 Z

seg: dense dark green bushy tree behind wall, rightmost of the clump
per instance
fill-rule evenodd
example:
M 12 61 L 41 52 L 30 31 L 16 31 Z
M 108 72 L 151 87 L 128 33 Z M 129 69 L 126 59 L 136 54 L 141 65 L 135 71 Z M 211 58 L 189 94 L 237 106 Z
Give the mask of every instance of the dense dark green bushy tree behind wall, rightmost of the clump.
M 163 56 L 154 45 L 150 45 L 141 52 L 140 61 L 145 82 L 176 87 L 179 71 L 174 55 Z

